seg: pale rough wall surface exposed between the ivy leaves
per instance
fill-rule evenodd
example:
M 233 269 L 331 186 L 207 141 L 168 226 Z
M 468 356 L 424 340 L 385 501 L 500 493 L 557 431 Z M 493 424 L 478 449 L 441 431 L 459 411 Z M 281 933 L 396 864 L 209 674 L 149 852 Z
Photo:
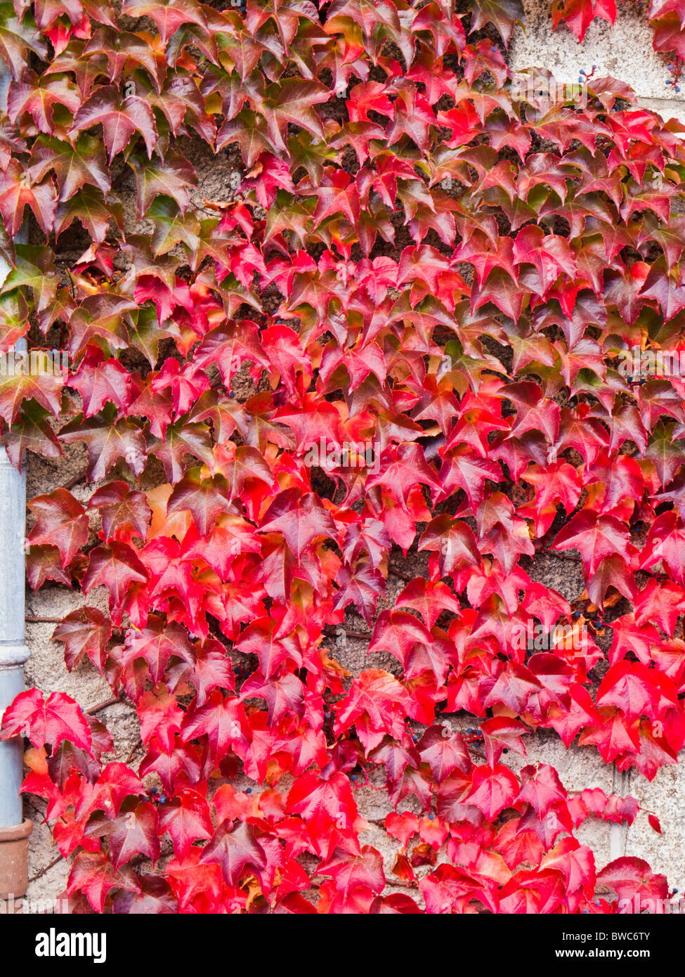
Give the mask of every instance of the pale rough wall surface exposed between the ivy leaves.
M 659 111 L 664 119 L 675 117 L 685 124 L 685 79 L 683 93 L 673 98 L 675 93 L 672 87 L 665 85 L 669 76 L 668 59 L 654 52 L 652 31 L 647 23 L 646 13 L 637 8 L 634 0 L 627 0 L 620 5 L 617 23 L 613 29 L 604 21 L 594 21 L 587 31 L 582 47 L 565 25 L 561 25 L 557 31 L 552 30 L 549 0 L 524 0 L 524 5 L 528 26 L 526 32 L 520 27 L 515 31 L 510 50 L 510 61 L 514 68 L 545 67 L 560 81 L 577 81 L 579 68 L 589 71 L 596 64 L 596 75 L 609 74 L 621 78 L 633 87 L 644 106 Z M 198 173 L 198 188 L 193 191 L 193 203 L 201 206 L 205 198 L 228 199 L 231 195 L 231 173 L 240 168 L 239 159 L 228 152 L 221 153 L 218 158 L 212 157 L 206 148 L 197 147 L 190 142 L 184 146 L 184 150 L 189 154 Z M 130 181 L 124 181 L 121 187 L 126 223 L 132 231 L 143 230 L 143 226 L 137 224 L 133 185 L 131 178 Z M 78 446 L 67 448 L 64 457 L 56 461 L 31 455 L 27 466 L 27 495 L 31 498 L 63 486 L 84 468 L 85 451 Z M 153 483 L 145 488 L 150 488 L 151 484 Z M 71 490 L 81 502 L 85 502 L 95 488 L 96 486 L 77 485 Z M 402 566 L 399 563 L 396 565 Z M 414 558 L 411 569 L 415 573 L 427 575 L 425 554 Z M 572 560 L 541 555 L 535 562 L 530 562 L 527 570 L 534 579 L 543 580 L 569 601 L 578 599 L 583 589 L 580 567 Z M 386 599 L 381 602 L 379 610 L 383 606 L 394 606 L 404 586 L 402 579 L 390 574 Z M 69 592 L 65 587 L 48 585 L 36 594 L 27 590 L 26 614 L 61 618 L 78 607 L 81 601 L 78 593 Z M 88 603 L 105 609 L 106 592 L 93 591 L 89 595 Z M 81 664 L 71 674 L 66 671 L 62 646 L 51 640 L 54 626 L 53 623 L 27 624 L 27 643 L 31 649 L 31 658 L 26 666 L 27 685 L 36 685 L 46 692 L 66 692 L 84 708 L 92 708 L 99 702 L 106 701 L 110 696 L 107 684 L 90 663 Z M 346 626 L 359 632 L 367 630 L 362 618 L 354 613 L 347 616 Z M 333 638 L 330 648 L 333 655 L 353 674 L 370 667 L 387 668 L 391 671 L 397 671 L 398 668 L 398 663 L 389 656 L 376 654 L 369 657 L 367 642 L 363 639 L 349 636 L 343 639 L 341 636 L 336 644 Z M 116 758 L 126 760 L 139 740 L 135 710 L 125 704 L 114 704 L 102 709 L 98 715 L 106 722 L 114 738 Z M 455 730 L 465 730 L 468 726 L 477 725 L 477 721 L 466 714 L 447 718 Z M 641 807 L 656 812 L 660 817 L 664 829 L 661 836 L 649 826 L 646 811 L 641 811 L 632 828 L 628 829 L 588 820 L 579 828 L 578 838 L 593 849 L 598 868 L 623 854 L 638 856 L 649 861 L 655 871 L 665 872 L 672 886 L 681 892 L 685 890 L 681 840 L 685 835 L 685 764 L 662 769 L 653 783 L 649 784 L 638 773 L 631 776 L 621 775 L 612 765 L 604 764 L 593 748 L 572 746 L 566 749 L 553 733 L 534 734 L 526 737 L 525 742 L 527 760 L 512 752 L 506 757 L 506 762 L 512 769 L 518 771 L 526 762 L 550 763 L 557 768 L 564 785 L 570 791 L 600 786 L 608 794 L 631 793 Z M 140 752 L 134 753 L 131 761 L 134 766 L 140 761 L 140 757 Z M 474 756 L 474 759 L 478 761 L 478 757 Z M 380 783 L 377 780 L 374 786 L 380 786 Z M 254 785 L 245 778 L 238 778 L 235 786 L 242 789 Z M 288 786 L 289 780 L 284 778 L 278 788 L 287 790 Z M 386 875 L 391 879 L 397 846 L 379 827 L 391 810 L 387 795 L 371 786 L 360 786 L 356 798 L 369 825 L 362 834 L 362 842 L 374 845 L 381 852 Z M 25 804 L 26 814 L 34 822 L 29 875 L 35 876 L 44 871 L 44 874 L 30 883 L 27 895 L 31 900 L 55 898 L 64 891 L 68 867 L 64 860 L 51 866 L 58 852 L 52 844 L 49 829 L 42 824 L 44 802 L 27 798 Z M 403 802 L 401 809 L 411 810 L 412 805 L 417 809 L 417 803 L 410 796 Z M 163 855 L 161 861 L 163 864 Z M 420 875 L 425 871 L 429 870 L 418 870 L 417 873 Z M 403 887 L 391 884 L 389 891 L 403 891 Z M 412 895 L 419 898 L 415 890 Z

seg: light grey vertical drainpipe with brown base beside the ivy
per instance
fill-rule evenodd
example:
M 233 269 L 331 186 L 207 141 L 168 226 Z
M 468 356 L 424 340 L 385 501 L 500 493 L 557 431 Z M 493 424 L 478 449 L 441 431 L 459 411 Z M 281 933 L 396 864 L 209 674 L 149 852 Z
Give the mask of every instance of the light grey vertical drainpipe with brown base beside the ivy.
M 0 109 L 6 110 L 7 68 L 0 69 Z M 21 229 L 20 239 L 25 240 Z M 10 269 L 0 259 L 0 283 Z M 26 348 L 25 340 L 17 343 Z M 0 447 L 0 717 L 23 692 L 23 663 L 28 658 L 24 644 L 23 538 L 26 523 L 26 480 Z M 15 900 L 26 893 L 28 884 L 28 836 L 31 821 L 23 818 L 21 782 L 23 743 L 14 737 L 0 743 L 0 900 L 8 900 L 13 912 Z

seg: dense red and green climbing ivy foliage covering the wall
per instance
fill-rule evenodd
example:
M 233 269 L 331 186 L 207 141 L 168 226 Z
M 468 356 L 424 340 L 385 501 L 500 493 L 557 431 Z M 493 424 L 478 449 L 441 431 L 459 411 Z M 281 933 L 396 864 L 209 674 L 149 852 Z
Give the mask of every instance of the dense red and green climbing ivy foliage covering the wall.
M 0 4 L 0 339 L 68 362 L 2 370 L 2 443 L 88 458 L 28 580 L 140 717 L 126 756 L 62 693 L 5 712 L 75 912 L 668 896 L 575 836 L 636 802 L 525 741 L 650 779 L 685 743 L 685 151 L 614 79 L 512 87 L 521 18 Z

